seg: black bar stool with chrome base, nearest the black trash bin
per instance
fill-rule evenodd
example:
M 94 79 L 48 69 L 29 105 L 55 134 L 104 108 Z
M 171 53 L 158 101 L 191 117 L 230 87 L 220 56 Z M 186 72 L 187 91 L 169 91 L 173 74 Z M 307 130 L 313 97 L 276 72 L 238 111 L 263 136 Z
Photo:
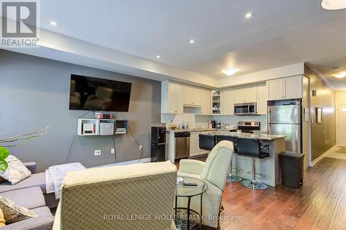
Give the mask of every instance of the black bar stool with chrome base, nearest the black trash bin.
M 237 151 L 238 155 L 245 157 L 251 157 L 253 160 L 252 180 L 243 180 L 242 184 L 249 189 L 263 190 L 267 189 L 268 186 L 262 182 L 256 181 L 256 169 L 255 169 L 255 158 L 270 158 L 271 148 L 267 145 L 262 145 L 258 139 L 250 138 L 237 138 Z

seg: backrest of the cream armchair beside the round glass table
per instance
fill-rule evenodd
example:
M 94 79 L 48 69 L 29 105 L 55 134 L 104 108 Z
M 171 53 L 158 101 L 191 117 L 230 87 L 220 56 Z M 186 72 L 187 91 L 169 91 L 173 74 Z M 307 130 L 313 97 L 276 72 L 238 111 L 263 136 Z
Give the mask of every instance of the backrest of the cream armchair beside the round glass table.
M 208 180 L 208 182 L 224 191 L 232 155 L 233 143 L 226 140 L 219 142 L 210 151 L 201 178 Z

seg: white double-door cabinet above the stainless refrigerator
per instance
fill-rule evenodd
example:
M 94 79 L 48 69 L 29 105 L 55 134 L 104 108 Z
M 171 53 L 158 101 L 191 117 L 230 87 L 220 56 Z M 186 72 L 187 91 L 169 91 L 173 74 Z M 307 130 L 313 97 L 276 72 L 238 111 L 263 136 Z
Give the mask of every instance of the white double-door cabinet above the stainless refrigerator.
M 268 100 L 302 98 L 302 77 L 285 77 L 267 82 Z

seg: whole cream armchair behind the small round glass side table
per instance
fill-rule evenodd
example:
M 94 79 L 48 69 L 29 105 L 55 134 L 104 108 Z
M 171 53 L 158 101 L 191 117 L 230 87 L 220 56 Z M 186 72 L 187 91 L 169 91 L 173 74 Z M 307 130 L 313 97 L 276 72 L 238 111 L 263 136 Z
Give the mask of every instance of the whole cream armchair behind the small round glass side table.
M 178 176 L 199 178 L 208 184 L 208 190 L 203 193 L 203 219 L 202 224 L 217 228 L 221 198 L 224 193 L 228 168 L 233 154 L 233 144 L 221 141 L 210 151 L 206 162 L 199 160 L 181 160 L 179 163 Z M 178 198 L 178 207 L 185 207 L 187 201 Z M 191 209 L 200 210 L 200 197 L 191 199 Z

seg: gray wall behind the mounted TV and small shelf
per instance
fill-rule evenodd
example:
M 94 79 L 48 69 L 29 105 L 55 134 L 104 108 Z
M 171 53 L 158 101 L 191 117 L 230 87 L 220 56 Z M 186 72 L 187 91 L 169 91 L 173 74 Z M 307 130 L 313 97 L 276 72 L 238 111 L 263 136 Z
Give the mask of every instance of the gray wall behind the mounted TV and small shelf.
M 50 124 L 51 131 L 39 140 L 10 148 L 24 162 L 37 162 L 38 170 L 63 164 L 75 134 L 78 117 L 86 111 L 69 111 L 71 74 L 131 82 L 129 112 L 121 113 L 140 144 L 143 158 L 150 156 L 150 127 L 160 124 L 161 82 L 120 73 L 67 64 L 0 50 L 0 137 L 36 131 Z M 116 119 L 121 117 L 117 113 Z M 92 113 L 84 118 L 93 118 Z M 138 160 L 140 151 L 130 133 L 116 135 L 118 162 Z M 84 166 L 113 164 L 113 137 L 77 135 L 71 160 Z M 102 151 L 94 156 L 94 150 Z

